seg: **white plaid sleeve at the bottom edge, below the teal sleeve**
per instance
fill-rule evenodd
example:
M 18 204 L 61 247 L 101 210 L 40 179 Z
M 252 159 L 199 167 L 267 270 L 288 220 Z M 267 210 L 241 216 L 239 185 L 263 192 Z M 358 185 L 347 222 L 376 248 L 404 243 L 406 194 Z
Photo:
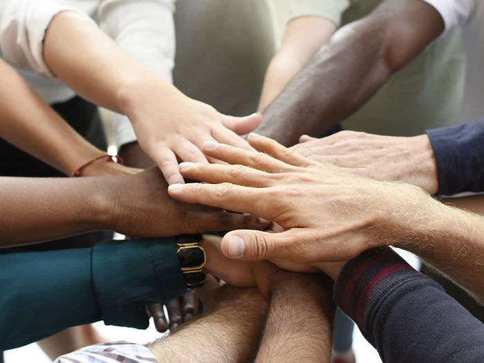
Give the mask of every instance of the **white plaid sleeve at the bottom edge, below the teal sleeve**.
M 86 346 L 58 357 L 54 363 L 158 363 L 151 351 L 129 342 L 112 342 Z

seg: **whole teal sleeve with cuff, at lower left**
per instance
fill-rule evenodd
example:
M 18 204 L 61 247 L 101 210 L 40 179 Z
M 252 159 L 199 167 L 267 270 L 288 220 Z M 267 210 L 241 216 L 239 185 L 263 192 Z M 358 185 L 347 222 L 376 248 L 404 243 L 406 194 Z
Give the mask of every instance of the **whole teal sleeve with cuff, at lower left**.
M 0 351 L 99 320 L 147 328 L 145 304 L 186 290 L 173 241 L 0 254 Z

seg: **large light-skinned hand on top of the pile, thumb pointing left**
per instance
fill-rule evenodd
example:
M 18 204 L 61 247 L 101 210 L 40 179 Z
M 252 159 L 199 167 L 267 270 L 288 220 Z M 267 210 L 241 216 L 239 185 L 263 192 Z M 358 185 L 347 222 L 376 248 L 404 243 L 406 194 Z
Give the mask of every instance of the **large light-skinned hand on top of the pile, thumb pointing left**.
M 233 259 L 346 261 L 376 245 L 406 238 L 398 235 L 402 211 L 428 198 L 417 187 L 355 176 L 262 136 L 251 134 L 248 140 L 263 152 L 205 144 L 207 156 L 241 165 L 180 165 L 186 178 L 215 185 L 169 187 L 179 201 L 250 212 L 283 227 L 284 232 L 275 234 L 227 233 L 221 247 Z

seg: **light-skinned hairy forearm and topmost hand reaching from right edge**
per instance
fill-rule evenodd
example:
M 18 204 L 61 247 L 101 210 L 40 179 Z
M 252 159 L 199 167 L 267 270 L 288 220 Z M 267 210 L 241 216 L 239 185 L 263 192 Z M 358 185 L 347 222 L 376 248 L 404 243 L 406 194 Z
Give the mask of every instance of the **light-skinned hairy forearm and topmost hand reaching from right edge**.
M 179 201 L 250 212 L 283 227 L 277 234 L 227 233 L 222 241 L 227 257 L 346 261 L 369 248 L 394 245 L 417 254 L 483 303 L 482 216 L 443 205 L 413 185 L 349 174 L 261 136 L 248 140 L 259 153 L 205 145 L 207 155 L 232 165 L 180 165 L 185 177 L 210 184 L 169 187 Z

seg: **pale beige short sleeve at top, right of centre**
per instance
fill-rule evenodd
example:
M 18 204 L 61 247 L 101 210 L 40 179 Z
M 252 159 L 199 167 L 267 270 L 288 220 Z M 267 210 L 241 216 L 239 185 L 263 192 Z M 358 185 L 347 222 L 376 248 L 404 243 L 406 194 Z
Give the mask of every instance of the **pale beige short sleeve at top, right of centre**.
M 323 17 L 341 24 L 343 12 L 351 5 L 350 0 L 276 0 L 274 8 L 284 24 L 298 17 Z

